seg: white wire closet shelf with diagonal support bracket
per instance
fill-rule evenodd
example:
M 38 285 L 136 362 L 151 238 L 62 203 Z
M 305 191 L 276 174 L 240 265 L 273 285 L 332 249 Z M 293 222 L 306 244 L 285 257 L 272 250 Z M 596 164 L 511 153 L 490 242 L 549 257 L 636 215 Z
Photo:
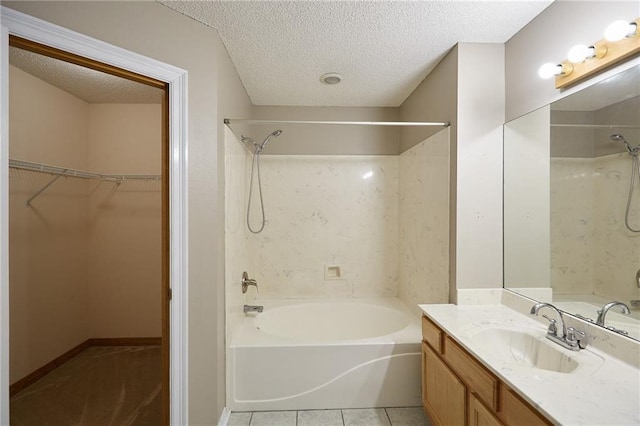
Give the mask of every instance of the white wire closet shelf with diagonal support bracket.
M 32 161 L 13 160 L 9 159 L 9 167 L 12 169 L 29 170 L 32 172 L 41 172 L 54 175 L 53 178 L 47 182 L 39 191 L 33 194 L 26 202 L 27 206 L 31 205 L 31 202 L 36 199 L 40 194 L 47 190 L 53 183 L 60 177 L 75 177 L 80 179 L 93 179 L 99 181 L 109 181 L 121 184 L 127 180 L 156 180 L 162 179 L 162 175 L 137 175 L 137 174 L 106 174 L 106 173 L 92 173 L 83 170 L 76 170 L 58 166 L 51 166 L 48 164 L 35 163 Z

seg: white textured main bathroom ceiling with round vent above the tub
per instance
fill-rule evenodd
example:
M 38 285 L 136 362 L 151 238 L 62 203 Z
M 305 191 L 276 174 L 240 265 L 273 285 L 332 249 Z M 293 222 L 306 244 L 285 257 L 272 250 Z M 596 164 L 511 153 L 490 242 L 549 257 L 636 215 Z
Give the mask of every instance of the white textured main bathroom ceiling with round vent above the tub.
M 255 105 L 396 107 L 456 43 L 504 43 L 551 1 L 160 3 L 218 29 Z

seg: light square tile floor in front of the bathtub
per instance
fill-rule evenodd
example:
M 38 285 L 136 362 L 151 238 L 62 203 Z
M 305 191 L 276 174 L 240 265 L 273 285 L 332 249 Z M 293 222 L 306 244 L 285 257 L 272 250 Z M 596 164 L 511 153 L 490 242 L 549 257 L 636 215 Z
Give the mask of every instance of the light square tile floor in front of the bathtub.
M 431 426 L 422 407 L 231 413 L 228 426 Z

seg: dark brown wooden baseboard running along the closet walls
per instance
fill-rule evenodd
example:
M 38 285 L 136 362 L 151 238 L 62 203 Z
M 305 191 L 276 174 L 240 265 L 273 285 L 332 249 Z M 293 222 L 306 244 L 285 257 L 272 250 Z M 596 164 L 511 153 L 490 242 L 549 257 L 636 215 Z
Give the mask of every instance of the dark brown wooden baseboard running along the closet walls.
M 60 367 L 65 362 L 69 361 L 80 352 L 84 351 L 91 346 L 160 346 L 162 344 L 161 337 L 106 337 L 106 338 L 91 338 L 80 343 L 63 353 L 59 357 L 52 361 L 49 361 L 42 367 L 38 368 L 32 373 L 27 374 L 22 379 L 18 380 L 14 384 L 9 386 L 9 397 L 14 396 L 18 392 L 27 388 L 37 382 L 47 374 L 51 373 L 56 368 Z

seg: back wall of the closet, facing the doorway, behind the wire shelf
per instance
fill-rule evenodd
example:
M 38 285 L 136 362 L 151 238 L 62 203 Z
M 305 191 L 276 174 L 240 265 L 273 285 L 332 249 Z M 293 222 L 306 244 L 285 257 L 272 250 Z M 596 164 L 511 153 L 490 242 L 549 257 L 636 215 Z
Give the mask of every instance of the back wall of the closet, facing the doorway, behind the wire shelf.
M 89 106 L 90 171 L 161 173 L 162 106 Z M 161 333 L 161 183 L 92 183 L 89 194 L 91 337 Z

